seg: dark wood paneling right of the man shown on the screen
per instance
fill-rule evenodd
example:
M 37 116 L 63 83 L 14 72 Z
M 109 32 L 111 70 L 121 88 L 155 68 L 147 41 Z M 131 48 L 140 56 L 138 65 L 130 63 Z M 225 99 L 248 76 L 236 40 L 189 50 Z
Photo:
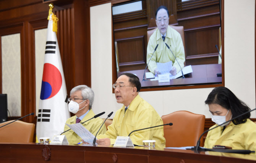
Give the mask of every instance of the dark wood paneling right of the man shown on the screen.
M 190 7 L 177 12 L 178 24 L 184 27 L 186 65 L 218 63 L 215 45 L 220 44 L 219 2 L 201 2 L 190 2 Z

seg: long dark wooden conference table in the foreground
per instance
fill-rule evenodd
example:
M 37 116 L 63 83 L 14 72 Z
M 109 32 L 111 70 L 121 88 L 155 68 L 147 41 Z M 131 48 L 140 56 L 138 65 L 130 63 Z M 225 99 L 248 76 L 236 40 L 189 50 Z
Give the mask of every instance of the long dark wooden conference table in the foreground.
M 117 148 L 94 145 L 0 143 L 0 162 L 19 163 L 255 163 L 256 155 L 180 149 Z

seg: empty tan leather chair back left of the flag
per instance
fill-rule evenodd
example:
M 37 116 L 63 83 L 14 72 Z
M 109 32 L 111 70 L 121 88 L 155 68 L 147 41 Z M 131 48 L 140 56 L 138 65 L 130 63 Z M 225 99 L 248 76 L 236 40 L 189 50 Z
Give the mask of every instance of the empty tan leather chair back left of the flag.
M 6 125 L 11 121 L 0 123 L 0 126 Z M 0 128 L 0 142 L 33 142 L 34 130 L 34 123 L 26 123 L 19 120 L 15 121 Z

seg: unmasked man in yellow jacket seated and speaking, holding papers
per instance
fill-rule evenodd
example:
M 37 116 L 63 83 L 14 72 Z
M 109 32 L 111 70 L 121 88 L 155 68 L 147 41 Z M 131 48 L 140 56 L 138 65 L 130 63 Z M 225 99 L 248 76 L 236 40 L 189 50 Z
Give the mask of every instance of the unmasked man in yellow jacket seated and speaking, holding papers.
M 156 110 L 139 96 L 141 83 L 137 76 L 122 74 L 113 88 L 117 102 L 123 107 L 115 113 L 108 131 L 97 136 L 98 145 L 113 145 L 117 136 L 128 136 L 131 131 L 163 124 Z M 155 140 L 156 148 L 165 148 L 163 126 L 133 132 L 130 138 L 135 145 L 143 145 L 143 140 Z

